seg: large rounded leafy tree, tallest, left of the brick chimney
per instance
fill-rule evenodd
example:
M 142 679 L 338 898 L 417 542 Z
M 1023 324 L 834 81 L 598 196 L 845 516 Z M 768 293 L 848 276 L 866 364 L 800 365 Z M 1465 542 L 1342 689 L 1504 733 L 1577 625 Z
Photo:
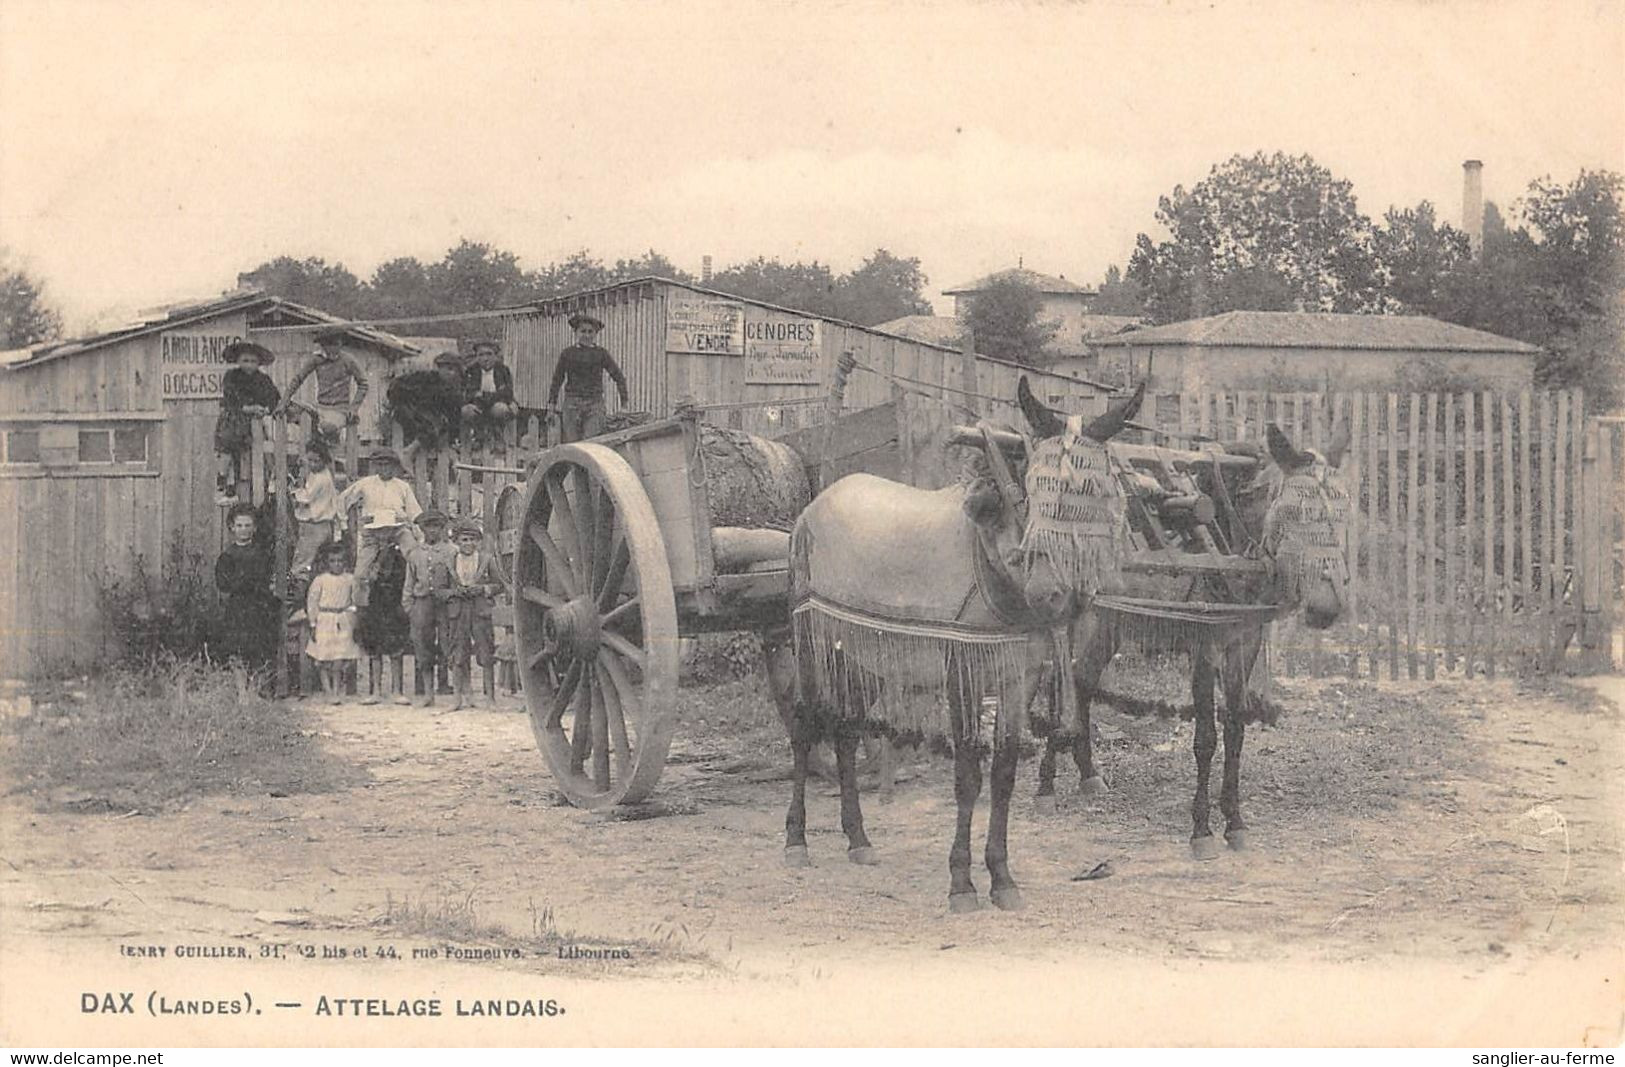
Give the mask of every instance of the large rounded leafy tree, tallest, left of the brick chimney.
M 1128 274 L 1155 322 L 1287 304 L 1358 312 L 1378 304 L 1372 221 L 1354 188 L 1310 156 L 1254 153 L 1157 201 L 1168 239 L 1141 234 Z

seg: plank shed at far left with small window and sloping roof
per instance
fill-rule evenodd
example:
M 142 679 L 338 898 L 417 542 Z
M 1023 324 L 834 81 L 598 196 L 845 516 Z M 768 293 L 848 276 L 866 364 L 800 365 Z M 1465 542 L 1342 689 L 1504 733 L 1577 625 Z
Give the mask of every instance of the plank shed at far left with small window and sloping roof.
M 223 542 L 214 503 L 221 351 L 250 338 L 276 352 L 286 388 L 310 333 L 338 322 L 262 291 L 167 307 L 122 330 L 8 354 L 0 364 L 0 671 L 31 676 L 102 658 L 99 591 L 143 557 L 208 565 Z M 294 326 L 294 328 L 291 328 Z M 375 426 L 410 344 L 346 328 L 372 380 Z

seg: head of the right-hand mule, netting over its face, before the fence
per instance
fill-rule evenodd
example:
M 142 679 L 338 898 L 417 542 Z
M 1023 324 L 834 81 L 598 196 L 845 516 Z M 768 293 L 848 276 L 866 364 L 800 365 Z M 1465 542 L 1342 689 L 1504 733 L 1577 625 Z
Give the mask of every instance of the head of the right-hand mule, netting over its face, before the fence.
M 1271 426 L 1269 463 L 1242 490 L 1242 520 L 1274 559 L 1269 601 L 1303 611 L 1303 622 L 1324 630 L 1349 603 L 1349 515 L 1342 481 L 1349 448 L 1341 432 L 1324 451 L 1298 450 Z

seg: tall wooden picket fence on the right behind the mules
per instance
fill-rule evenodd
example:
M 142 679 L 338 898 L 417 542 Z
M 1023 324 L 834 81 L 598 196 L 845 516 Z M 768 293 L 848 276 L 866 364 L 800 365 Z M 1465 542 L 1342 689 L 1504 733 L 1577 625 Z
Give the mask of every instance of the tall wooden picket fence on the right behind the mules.
M 1433 679 L 1618 661 L 1625 421 L 1583 411 L 1580 391 L 1201 393 L 1141 421 L 1170 443 L 1274 422 L 1300 447 L 1347 426 L 1349 611 L 1324 635 L 1277 624 L 1277 672 Z

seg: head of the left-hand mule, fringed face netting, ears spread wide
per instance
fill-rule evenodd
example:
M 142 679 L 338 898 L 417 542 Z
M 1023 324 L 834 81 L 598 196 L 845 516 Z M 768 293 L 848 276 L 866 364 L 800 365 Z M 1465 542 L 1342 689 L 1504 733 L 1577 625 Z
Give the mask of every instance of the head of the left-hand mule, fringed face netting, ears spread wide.
M 1079 601 L 1118 581 L 1128 515 L 1107 442 L 1134 417 L 1144 396 L 1141 383 L 1133 396 L 1086 422 L 1045 406 L 1025 377 L 1016 387 L 1032 427 L 1019 560 L 1027 603 L 1048 617 L 1071 614 Z

